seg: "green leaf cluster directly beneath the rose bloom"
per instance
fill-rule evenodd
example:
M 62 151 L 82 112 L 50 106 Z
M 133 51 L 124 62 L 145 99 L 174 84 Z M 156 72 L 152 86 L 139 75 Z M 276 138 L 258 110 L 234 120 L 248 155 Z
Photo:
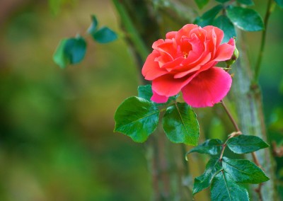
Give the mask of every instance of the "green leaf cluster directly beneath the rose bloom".
M 115 113 L 115 132 L 131 137 L 134 142 L 145 142 L 158 127 L 162 116 L 163 130 L 171 142 L 197 145 L 200 127 L 197 115 L 186 103 L 178 103 L 178 96 L 167 103 L 154 103 L 151 85 L 139 86 L 139 97 L 127 98 Z

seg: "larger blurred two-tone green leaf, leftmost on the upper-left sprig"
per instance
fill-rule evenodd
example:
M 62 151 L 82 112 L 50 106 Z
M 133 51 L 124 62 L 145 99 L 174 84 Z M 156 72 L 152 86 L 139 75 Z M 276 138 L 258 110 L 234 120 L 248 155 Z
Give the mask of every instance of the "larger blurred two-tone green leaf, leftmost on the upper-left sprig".
M 81 62 L 86 54 L 86 41 L 80 36 L 63 39 L 59 42 L 53 55 L 53 61 L 59 67 L 67 67 L 68 64 Z

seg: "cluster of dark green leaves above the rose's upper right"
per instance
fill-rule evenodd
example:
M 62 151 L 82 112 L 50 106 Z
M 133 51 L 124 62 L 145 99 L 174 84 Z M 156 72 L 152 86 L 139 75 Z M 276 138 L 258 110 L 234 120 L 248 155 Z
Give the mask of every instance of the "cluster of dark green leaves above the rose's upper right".
M 253 6 L 253 0 L 216 0 L 220 4 L 209 9 L 202 16 L 197 17 L 197 25 L 214 25 L 224 31 L 223 42 L 228 42 L 230 38 L 236 37 L 235 28 L 246 31 L 259 31 L 264 29 L 264 23 L 260 14 L 246 6 Z M 195 0 L 199 8 L 203 8 L 209 0 Z

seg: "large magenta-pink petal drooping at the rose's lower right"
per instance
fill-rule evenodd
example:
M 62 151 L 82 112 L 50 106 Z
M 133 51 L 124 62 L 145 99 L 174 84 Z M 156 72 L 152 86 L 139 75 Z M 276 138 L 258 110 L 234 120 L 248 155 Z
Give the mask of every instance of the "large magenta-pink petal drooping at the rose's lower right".
M 229 92 L 232 79 L 224 69 L 212 67 L 182 88 L 185 102 L 194 108 L 212 107 Z

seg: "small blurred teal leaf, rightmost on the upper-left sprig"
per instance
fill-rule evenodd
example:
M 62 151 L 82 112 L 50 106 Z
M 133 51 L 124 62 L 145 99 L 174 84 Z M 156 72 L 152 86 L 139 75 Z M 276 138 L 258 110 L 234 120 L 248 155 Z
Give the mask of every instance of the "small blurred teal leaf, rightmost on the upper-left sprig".
M 117 34 L 108 27 L 100 28 L 91 35 L 96 42 L 100 43 L 108 43 L 117 39 Z

